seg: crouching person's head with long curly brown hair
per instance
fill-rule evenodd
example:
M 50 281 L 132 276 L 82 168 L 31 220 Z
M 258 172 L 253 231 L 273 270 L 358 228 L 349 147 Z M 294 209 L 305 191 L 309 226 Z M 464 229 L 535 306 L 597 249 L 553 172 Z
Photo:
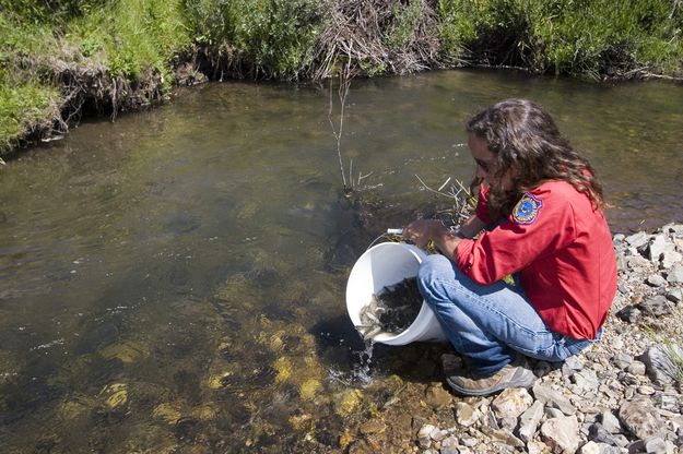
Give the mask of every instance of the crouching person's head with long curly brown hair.
M 588 159 L 572 148 L 551 116 L 537 104 L 503 100 L 472 117 L 467 131 L 483 139 L 496 156 L 493 181 L 514 170 L 514 189 L 491 184 L 488 206 L 494 217 L 508 215 L 525 192 L 547 180 L 569 182 L 591 200 L 594 210 L 605 206 L 602 184 Z M 475 179 L 473 188 L 480 182 Z

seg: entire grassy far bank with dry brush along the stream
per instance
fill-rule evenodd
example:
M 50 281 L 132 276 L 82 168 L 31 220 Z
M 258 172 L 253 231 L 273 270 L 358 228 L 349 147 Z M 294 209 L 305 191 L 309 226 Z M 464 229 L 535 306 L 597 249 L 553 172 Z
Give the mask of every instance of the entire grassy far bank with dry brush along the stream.
M 205 77 L 683 75 L 680 0 L 0 0 L 0 157 Z

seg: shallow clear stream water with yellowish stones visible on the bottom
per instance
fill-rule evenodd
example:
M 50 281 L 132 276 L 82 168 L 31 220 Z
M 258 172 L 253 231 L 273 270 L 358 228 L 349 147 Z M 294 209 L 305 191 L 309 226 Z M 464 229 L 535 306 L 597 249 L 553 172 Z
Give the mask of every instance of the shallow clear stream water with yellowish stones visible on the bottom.
M 586 150 L 613 230 L 681 220 L 683 93 L 663 83 L 354 81 L 346 171 L 372 172 L 366 191 L 397 211 L 426 204 L 415 176 L 468 180 L 463 121 L 511 96 Z M 344 418 L 431 377 L 426 347 L 375 346 L 369 385 L 354 380 L 345 278 L 377 232 L 341 195 L 328 103 L 316 86 L 209 84 L 2 169 L 4 451 L 334 451 Z

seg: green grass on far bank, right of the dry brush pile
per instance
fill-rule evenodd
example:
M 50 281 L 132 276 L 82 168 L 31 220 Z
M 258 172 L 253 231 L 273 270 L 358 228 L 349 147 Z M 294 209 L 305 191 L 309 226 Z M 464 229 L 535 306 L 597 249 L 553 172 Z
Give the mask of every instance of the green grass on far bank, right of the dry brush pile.
M 446 51 L 488 49 L 496 63 L 591 77 L 683 70 L 674 0 L 439 0 L 439 11 Z

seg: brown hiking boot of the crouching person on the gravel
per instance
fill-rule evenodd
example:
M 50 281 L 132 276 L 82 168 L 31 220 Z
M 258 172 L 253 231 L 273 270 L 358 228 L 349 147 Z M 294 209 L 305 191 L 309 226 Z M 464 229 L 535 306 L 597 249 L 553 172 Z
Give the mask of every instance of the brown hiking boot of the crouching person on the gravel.
M 485 396 L 507 387 L 530 387 L 534 381 L 535 375 L 523 356 L 488 377 L 475 377 L 462 369 L 446 377 L 450 387 L 467 396 Z

